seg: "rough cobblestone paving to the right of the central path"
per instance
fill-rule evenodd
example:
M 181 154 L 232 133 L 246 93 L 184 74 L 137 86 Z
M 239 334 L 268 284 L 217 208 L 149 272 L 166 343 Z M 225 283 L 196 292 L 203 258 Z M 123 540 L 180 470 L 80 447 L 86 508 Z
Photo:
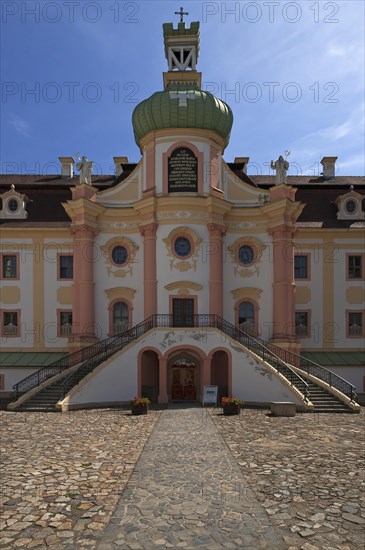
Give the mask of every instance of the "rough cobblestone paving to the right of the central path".
M 292 550 L 365 548 L 365 411 L 212 418 Z

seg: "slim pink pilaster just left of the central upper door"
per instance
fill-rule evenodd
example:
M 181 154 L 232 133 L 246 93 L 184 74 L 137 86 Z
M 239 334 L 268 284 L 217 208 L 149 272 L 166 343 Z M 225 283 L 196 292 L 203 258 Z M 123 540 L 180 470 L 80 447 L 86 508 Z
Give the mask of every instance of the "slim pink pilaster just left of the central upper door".
M 155 223 L 140 228 L 143 235 L 145 319 L 157 313 L 156 230 Z

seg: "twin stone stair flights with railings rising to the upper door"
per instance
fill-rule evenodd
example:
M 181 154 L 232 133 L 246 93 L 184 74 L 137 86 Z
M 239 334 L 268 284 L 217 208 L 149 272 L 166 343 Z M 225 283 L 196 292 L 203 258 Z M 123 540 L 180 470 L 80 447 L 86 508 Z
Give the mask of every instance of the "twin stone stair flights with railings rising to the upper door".
M 99 342 L 85 348 L 81 353 L 85 354 L 85 359 L 80 363 L 80 357 L 76 357 L 75 361 L 79 362 L 79 366 L 76 365 L 76 370 L 70 372 L 68 369 L 63 371 L 60 377 L 59 370 L 55 369 L 55 365 L 47 367 L 49 372 L 45 372 L 44 376 L 39 376 L 39 373 L 35 373 L 31 377 L 19 382 L 16 388 L 13 401 L 16 401 L 19 396 L 19 387 L 24 387 L 20 395 L 26 396 L 30 390 L 34 390 L 37 385 L 43 383 L 44 380 L 49 379 L 49 383 L 40 389 L 38 392 L 31 394 L 28 399 L 16 406 L 17 410 L 27 411 L 55 411 L 56 404 L 62 400 L 69 391 L 76 386 L 85 376 L 90 374 L 97 366 L 102 364 L 106 359 L 114 355 L 117 351 L 123 349 L 129 343 L 136 341 L 140 336 L 146 334 L 153 328 L 169 328 L 175 326 L 173 324 L 173 318 L 169 315 L 155 315 L 142 323 L 136 325 L 132 329 L 121 333 L 117 337 L 109 338 L 103 342 Z M 298 361 L 302 361 L 300 356 L 294 356 L 283 352 L 280 348 L 267 344 L 259 338 L 253 338 L 249 334 L 237 329 L 235 325 L 228 323 L 224 319 L 215 315 L 196 315 L 194 316 L 191 328 L 201 327 L 214 327 L 221 330 L 224 334 L 231 337 L 233 340 L 241 344 L 243 347 L 251 350 L 258 355 L 263 361 L 269 363 L 277 372 L 282 374 L 286 380 L 304 397 L 305 401 L 311 401 L 314 405 L 314 412 L 326 413 L 326 412 L 338 412 L 349 413 L 354 410 L 348 406 L 345 402 L 338 399 L 330 391 L 327 391 L 319 384 L 316 384 L 309 377 L 306 376 L 307 372 L 304 372 L 303 365 L 298 365 Z M 269 347 L 270 346 L 270 347 Z M 285 353 L 285 357 L 280 357 L 280 354 Z M 307 361 L 308 363 L 308 361 Z M 300 374 L 296 372 L 295 367 L 300 367 Z M 307 365 L 308 366 L 308 365 Z M 347 381 L 340 379 L 334 373 L 323 369 L 320 365 L 310 362 L 310 367 L 314 368 L 316 372 L 322 373 L 319 378 L 326 381 L 326 377 L 329 377 L 331 381 L 329 386 L 341 387 L 341 393 L 345 395 L 352 395 L 353 386 Z M 312 372 L 308 372 L 308 374 Z M 57 380 L 52 383 L 52 377 L 58 374 Z M 316 375 L 317 376 L 317 375 Z M 324 378 L 323 378 L 324 376 Z M 36 378 L 38 377 L 38 381 Z M 35 378 L 35 380 L 33 380 Z M 346 391 L 342 388 L 346 388 Z M 344 395 L 344 397 L 345 397 Z M 356 394 L 355 394 L 356 395 Z M 353 399 L 350 397 L 350 399 Z M 357 411 L 358 412 L 358 411 Z

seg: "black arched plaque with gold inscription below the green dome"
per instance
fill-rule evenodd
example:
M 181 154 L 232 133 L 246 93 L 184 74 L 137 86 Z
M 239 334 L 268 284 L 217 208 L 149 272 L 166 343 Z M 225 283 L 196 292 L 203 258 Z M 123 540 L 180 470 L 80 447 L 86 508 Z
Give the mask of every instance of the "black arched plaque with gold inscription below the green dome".
M 198 191 L 198 159 L 187 147 L 175 149 L 168 159 L 168 191 Z

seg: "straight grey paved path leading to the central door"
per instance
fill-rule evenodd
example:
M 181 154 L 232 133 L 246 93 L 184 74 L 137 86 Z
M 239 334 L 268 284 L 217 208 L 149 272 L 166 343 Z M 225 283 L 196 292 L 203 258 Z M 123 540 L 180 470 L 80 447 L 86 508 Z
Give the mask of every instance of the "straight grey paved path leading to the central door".
M 98 550 L 281 549 L 209 413 L 163 412 Z

